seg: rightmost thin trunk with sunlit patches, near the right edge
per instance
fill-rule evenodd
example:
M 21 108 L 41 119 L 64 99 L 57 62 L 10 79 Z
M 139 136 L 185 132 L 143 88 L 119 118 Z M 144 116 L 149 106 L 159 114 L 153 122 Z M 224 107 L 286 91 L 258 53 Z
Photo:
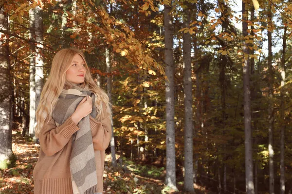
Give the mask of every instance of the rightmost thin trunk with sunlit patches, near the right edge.
M 280 139 L 280 194 L 285 194 L 285 100 L 284 85 L 286 79 L 285 54 L 286 54 L 287 26 L 284 28 L 283 52 L 281 60 L 281 139 Z

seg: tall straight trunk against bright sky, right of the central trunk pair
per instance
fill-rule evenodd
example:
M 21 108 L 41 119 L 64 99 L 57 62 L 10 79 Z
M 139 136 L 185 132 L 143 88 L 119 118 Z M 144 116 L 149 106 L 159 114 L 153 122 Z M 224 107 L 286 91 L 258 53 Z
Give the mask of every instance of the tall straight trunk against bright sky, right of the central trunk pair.
M 242 33 L 248 35 L 247 12 L 245 2 L 242 0 Z M 252 152 L 252 128 L 251 128 L 251 97 L 250 97 L 250 60 L 245 56 L 248 54 L 248 46 L 243 41 L 243 93 L 244 93 L 244 134 L 245 134 L 245 189 L 247 194 L 255 194 L 253 176 L 253 152 Z

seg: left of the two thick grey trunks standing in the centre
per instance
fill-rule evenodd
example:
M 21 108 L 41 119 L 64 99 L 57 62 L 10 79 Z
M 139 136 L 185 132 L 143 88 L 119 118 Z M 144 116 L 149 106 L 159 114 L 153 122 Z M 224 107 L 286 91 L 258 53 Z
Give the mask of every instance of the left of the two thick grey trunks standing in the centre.
M 170 1 L 171 4 L 171 1 Z M 164 43 L 165 43 L 165 100 L 166 100 L 166 175 L 165 184 L 177 190 L 175 175 L 175 126 L 174 126 L 174 61 L 173 34 L 170 6 L 164 5 Z

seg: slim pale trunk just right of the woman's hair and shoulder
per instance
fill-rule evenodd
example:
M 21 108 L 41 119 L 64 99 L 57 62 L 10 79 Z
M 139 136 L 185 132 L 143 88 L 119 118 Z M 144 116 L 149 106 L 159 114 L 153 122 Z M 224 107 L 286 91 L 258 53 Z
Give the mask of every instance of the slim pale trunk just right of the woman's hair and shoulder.
M 109 48 L 106 48 L 106 65 L 107 65 L 107 73 L 111 74 L 111 67 L 110 67 L 110 51 Z M 110 104 L 112 104 L 111 100 L 111 82 L 112 76 L 107 76 L 107 89 L 108 89 L 108 96 Z M 111 109 L 111 106 L 110 106 Z M 112 117 L 111 117 L 112 120 Z M 114 133 L 113 133 L 113 126 L 111 125 L 111 139 L 110 139 L 110 152 L 111 152 L 111 165 L 117 166 L 117 159 L 115 157 L 115 145 L 114 145 Z

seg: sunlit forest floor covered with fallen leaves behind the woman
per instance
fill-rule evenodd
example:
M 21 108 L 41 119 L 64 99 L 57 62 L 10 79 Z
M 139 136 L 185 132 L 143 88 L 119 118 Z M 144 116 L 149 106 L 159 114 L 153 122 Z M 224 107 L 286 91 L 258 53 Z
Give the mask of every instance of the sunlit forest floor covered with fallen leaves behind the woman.
M 17 157 L 16 166 L 0 170 L 0 194 L 33 194 L 33 169 L 37 162 L 39 145 L 29 137 L 22 137 L 13 130 L 12 149 Z M 111 167 L 110 155 L 106 156 L 104 173 L 105 194 L 182 194 L 173 192 L 164 185 L 164 168 L 135 164 L 125 161 L 127 170 Z M 117 155 L 117 158 L 119 156 Z M 178 182 L 183 190 L 183 183 Z M 210 194 L 203 187 L 194 184 L 196 193 Z

